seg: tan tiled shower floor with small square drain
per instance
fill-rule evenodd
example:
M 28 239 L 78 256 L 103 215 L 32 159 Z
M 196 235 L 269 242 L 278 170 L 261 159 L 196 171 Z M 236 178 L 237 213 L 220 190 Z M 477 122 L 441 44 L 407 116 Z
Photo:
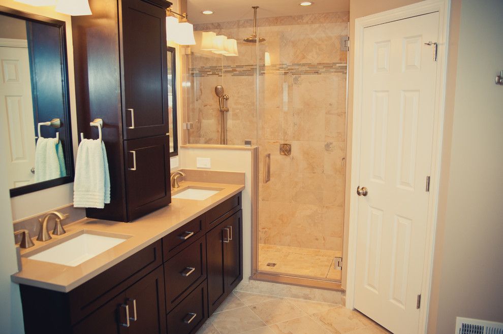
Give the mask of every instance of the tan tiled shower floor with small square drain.
M 329 281 L 340 281 L 341 271 L 334 268 L 340 251 L 259 244 L 259 271 Z M 275 263 L 275 266 L 268 266 Z

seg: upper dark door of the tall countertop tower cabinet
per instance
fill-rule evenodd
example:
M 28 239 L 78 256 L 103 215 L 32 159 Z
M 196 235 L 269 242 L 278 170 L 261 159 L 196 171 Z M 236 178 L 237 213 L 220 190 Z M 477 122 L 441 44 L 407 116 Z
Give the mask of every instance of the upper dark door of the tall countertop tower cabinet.
M 121 23 L 124 139 L 166 135 L 166 9 L 141 0 L 122 0 Z

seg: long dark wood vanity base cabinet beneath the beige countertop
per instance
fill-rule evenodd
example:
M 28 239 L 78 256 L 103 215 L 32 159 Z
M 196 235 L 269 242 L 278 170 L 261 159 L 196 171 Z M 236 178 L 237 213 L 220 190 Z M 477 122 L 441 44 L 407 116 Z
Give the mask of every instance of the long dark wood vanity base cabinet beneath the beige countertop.
M 243 277 L 241 205 L 228 201 L 69 292 L 20 284 L 25 332 L 195 333 Z

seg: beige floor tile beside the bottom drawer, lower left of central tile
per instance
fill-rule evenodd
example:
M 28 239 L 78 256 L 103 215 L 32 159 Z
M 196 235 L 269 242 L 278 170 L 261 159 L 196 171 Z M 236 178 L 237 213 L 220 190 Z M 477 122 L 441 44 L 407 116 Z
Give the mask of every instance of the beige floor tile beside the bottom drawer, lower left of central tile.
M 265 327 L 265 323 L 248 307 L 215 313 L 211 323 L 221 334 L 236 334 Z

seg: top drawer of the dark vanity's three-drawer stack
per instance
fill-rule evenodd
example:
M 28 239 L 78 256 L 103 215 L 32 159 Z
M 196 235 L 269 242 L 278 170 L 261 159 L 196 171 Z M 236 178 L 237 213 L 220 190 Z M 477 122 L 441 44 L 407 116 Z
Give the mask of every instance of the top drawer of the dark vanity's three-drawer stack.
M 198 240 L 205 232 L 204 215 L 201 215 L 169 233 L 163 238 L 164 261 Z

